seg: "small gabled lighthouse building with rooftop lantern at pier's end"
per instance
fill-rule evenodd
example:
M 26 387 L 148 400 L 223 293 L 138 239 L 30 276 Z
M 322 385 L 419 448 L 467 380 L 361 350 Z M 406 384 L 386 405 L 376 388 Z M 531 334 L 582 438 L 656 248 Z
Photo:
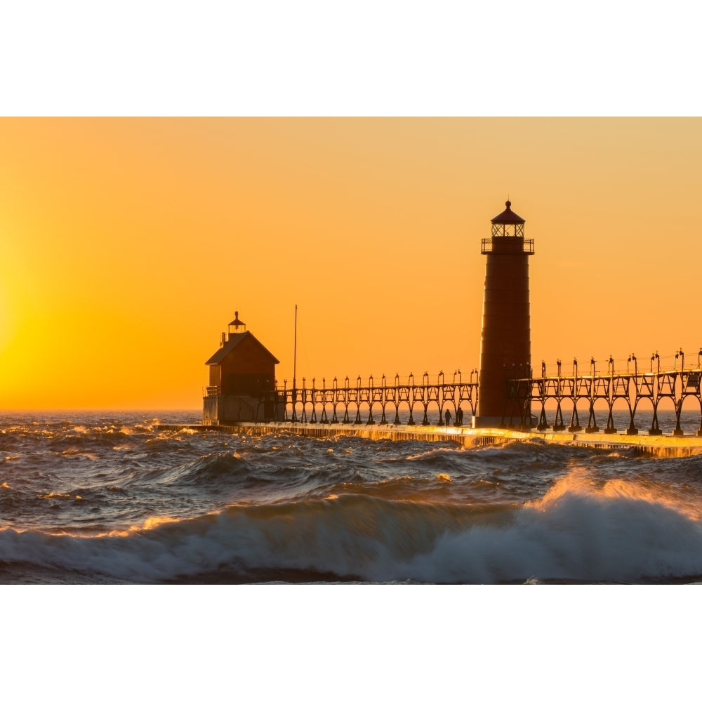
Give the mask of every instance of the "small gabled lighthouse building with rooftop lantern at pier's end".
M 228 333 L 222 333 L 219 350 L 206 361 L 210 384 L 203 398 L 202 423 L 265 421 L 276 418 L 274 403 L 267 400 L 275 389 L 278 359 L 246 331 L 234 312 Z

